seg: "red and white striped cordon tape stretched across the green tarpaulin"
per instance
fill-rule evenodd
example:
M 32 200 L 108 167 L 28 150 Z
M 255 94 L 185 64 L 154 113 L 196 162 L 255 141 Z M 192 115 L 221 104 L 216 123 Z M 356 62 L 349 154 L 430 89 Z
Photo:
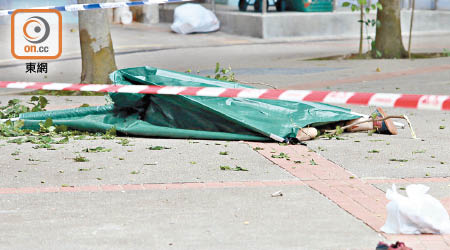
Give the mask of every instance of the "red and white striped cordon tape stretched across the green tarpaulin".
M 148 85 L 72 84 L 48 82 L 0 81 L 0 88 L 33 90 L 93 91 L 109 93 L 140 93 L 212 97 L 240 97 L 285 101 L 309 101 L 329 104 L 353 104 L 428 110 L 450 110 L 448 95 L 410 95 L 389 93 L 360 93 L 340 91 L 181 87 Z

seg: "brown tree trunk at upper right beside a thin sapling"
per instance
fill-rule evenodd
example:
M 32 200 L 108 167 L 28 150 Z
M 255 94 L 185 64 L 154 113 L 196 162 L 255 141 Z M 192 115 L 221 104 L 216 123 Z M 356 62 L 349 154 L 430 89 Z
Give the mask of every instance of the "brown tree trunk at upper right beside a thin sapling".
M 377 12 L 375 49 L 381 52 L 382 58 L 404 58 L 408 53 L 403 47 L 402 29 L 400 25 L 400 0 L 380 0 L 382 10 Z M 376 54 L 376 51 L 373 51 Z

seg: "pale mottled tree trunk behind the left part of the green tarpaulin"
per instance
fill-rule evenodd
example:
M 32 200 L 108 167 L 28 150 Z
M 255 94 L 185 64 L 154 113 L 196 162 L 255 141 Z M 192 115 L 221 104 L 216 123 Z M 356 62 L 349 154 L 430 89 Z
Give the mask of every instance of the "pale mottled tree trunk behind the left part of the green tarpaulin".
M 78 0 L 78 3 L 92 3 L 92 0 Z M 97 0 L 97 3 L 106 0 Z M 106 10 L 85 10 L 78 12 L 81 46 L 81 82 L 111 83 L 109 73 L 117 69 L 114 49 L 109 32 Z

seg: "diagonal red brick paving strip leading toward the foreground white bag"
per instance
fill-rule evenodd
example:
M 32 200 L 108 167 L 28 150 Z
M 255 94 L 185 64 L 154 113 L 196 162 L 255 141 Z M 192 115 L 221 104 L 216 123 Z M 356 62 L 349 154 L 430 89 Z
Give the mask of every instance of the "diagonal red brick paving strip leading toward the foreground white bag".
M 345 211 L 360 219 L 375 231 L 380 232 L 386 220 L 386 205 L 388 200 L 385 193 L 371 184 L 376 183 L 426 183 L 426 182 L 448 182 L 450 178 L 406 178 L 406 179 L 383 179 L 383 180 L 361 180 L 344 168 L 326 160 L 305 146 L 288 145 L 278 143 L 248 143 L 258 150 L 267 159 L 271 160 L 281 168 L 302 180 L 306 185 L 323 194 Z M 273 156 L 285 153 L 286 158 L 279 159 Z M 311 165 L 314 160 L 317 165 Z M 301 162 L 301 163 L 295 163 Z M 449 209 L 450 197 L 442 200 L 442 204 Z M 414 250 L 420 249 L 450 249 L 449 235 L 388 235 L 386 239 L 395 242 L 397 240 L 406 242 L 407 246 Z

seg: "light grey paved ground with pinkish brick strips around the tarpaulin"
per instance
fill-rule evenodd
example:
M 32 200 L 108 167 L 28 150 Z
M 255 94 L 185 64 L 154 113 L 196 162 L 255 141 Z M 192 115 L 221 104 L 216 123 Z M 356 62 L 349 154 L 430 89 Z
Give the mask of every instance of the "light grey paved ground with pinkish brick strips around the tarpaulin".
M 130 46 L 118 49 L 118 66 L 206 74 L 220 62 L 240 80 L 279 88 L 450 93 L 448 58 L 307 61 L 355 52 L 357 41 L 259 40 L 220 32 L 181 36 L 167 30 L 114 27 L 115 47 Z M 450 47 L 448 38 L 417 37 L 413 49 L 441 52 Z M 67 51 L 77 51 L 76 44 L 66 44 Z M 49 62 L 46 76 L 25 75 L 25 62 L 7 61 L 8 52 L 1 53 L 0 80 L 79 80 L 76 53 Z M 17 97 L 0 91 L 2 104 Z M 50 109 L 105 103 L 103 97 L 49 100 Z M 397 239 L 415 250 L 450 249 L 449 236 L 379 232 L 386 218 L 384 191 L 392 183 L 429 185 L 450 211 L 449 112 L 387 111 L 406 113 L 420 140 L 405 129 L 397 136 L 345 134 L 344 140 L 319 139 L 308 147 L 150 138 L 127 138 L 132 146 L 123 146 L 120 138 L 90 138 L 47 150 L 2 138 L 0 249 L 374 249 L 379 240 Z M 97 146 L 111 151 L 83 152 Z M 281 152 L 291 160 L 272 157 Z M 77 155 L 89 161 L 75 162 Z M 222 165 L 249 171 L 224 171 Z M 283 196 L 271 197 L 279 190 Z

